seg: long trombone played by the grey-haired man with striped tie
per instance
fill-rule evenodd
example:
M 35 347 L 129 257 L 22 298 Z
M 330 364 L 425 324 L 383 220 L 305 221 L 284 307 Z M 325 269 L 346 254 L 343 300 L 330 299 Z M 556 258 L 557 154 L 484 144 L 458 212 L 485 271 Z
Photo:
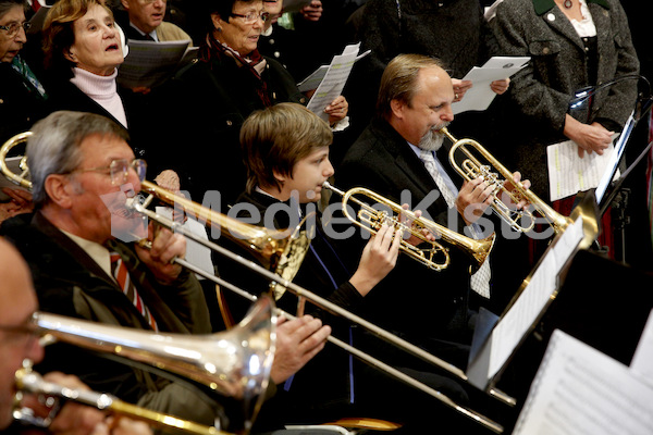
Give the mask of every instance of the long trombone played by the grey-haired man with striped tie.
M 15 145 L 20 144 L 21 141 L 24 141 L 28 138 L 30 134 L 23 134 L 23 135 L 16 135 L 13 138 L 9 139 L 1 148 L 0 148 L 0 162 L 4 160 L 4 157 L 7 156 L 7 153 L 9 152 L 9 150 L 11 148 L 13 148 Z M 9 176 L 8 173 L 5 171 L 8 171 L 5 169 L 5 166 L 2 166 L 0 164 L 0 169 L 2 170 L 2 172 L 5 174 L 5 176 L 10 179 L 12 179 L 14 183 L 19 184 L 21 182 L 16 181 L 16 177 L 12 177 Z M 14 174 L 15 175 L 15 174 Z M 24 187 L 30 187 L 32 184 L 28 181 L 25 181 L 25 184 L 22 185 Z M 207 221 L 207 223 L 211 223 L 212 225 L 220 225 L 220 229 L 223 234 L 227 233 L 230 229 L 230 225 L 233 223 L 233 221 L 236 221 L 238 224 L 242 224 L 239 221 L 237 220 L 231 220 L 231 219 L 223 219 L 225 217 L 224 215 L 222 215 L 221 213 L 214 212 L 212 210 L 202 208 L 201 206 L 194 203 L 185 198 L 182 198 L 180 196 L 176 196 L 165 189 L 162 189 L 161 187 L 155 185 L 153 183 L 150 182 L 143 182 L 141 183 L 141 188 L 143 190 L 145 190 L 146 192 L 150 194 L 151 196 L 156 196 L 159 199 L 161 199 L 164 202 L 168 202 L 169 204 L 172 206 L 182 206 L 182 207 L 188 207 L 189 210 L 193 210 L 194 213 L 198 216 L 201 216 L 204 220 Z M 291 282 L 291 277 L 288 276 L 281 276 L 279 274 L 275 274 L 271 271 L 269 271 L 268 269 L 261 266 L 260 264 L 244 259 L 243 257 L 230 251 L 226 248 L 223 248 L 210 240 L 206 240 L 202 237 L 197 236 L 196 234 L 194 234 L 193 232 L 189 232 L 188 229 L 184 228 L 182 226 L 182 224 L 180 224 L 178 222 L 175 222 L 171 219 L 168 219 L 161 214 L 158 214 L 156 212 L 152 212 L 151 210 L 148 210 L 147 208 L 145 208 L 140 202 L 139 202 L 139 197 L 136 196 L 134 198 L 128 198 L 127 199 L 127 208 L 131 208 L 132 210 L 134 210 L 137 213 L 140 213 L 141 215 L 151 219 L 152 222 L 156 222 L 164 227 L 168 227 L 169 229 L 171 229 L 172 232 L 175 233 L 180 233 L 183 236 L 200 244 L 204 245 L 206 247 L 208 247 L 209 249 L 230 258 L 231 260 L 248 268 L 249 270 L 254 271 L 255 273 L 258 273 L 259 275 L 263 276 L 264 278 L 269 279 L 271 283 L 276 284 L 276 285 L 281 285 L 283 287 L 285 287 L 288 291 L 291 291 L 292 294 L 294 294 L 295 296 L 297 296 L 300 299 L 306 299 L 309 300 L 310 302 L 315 303 L 318 307 L 323 308 L 326 311 L 330 311 L 334 314 L 337 314 L 344 319 L 347 319 L 348 321 L 356 323 L 365 328 L 367 328 L 368 331 L 372 332 L 373 334 L 375 334 L 377 336 L 379 336 L 380 338 L 395 345 L 396 347 L 407 351 L 408 353 L 411 353 L 415 357 L 418 357 L 446 372 L 448 372 L 449 374 L 463 380 L 463 381 L 467 381 L 467 375 L 465 374 L 464 371 L 461 371 L 460 369 L 458 369 L 457 366 L 443 361 L 442 359 L 424 351 L 423 349 L 402 339 L 401 337 L 397 337 L 393 334 L 391 334 L 390 332 L 366 321 L 365 319 L 350 313 L 349 311 L 343 309 L 342 307 L 294 284 Z M 149 199 L 148 199 L 149 200 Z M 147 201 L 147 200 L 146 200 Z M 256 227 L 252 227 L 256 228 Z M 235 231 L 235 233 L 238 233 L 237 231 Z M 285 233 L 285 232 L 284 232 Z M 297 234 L 297 231 L 295 231 L 294 234 Z M 291 238 L 293 238 L 293 235 L 288 236 Z M 301 237 L 300 237 L 301 238 Z M 274 249 L 272 249 L 271 247 L 268 247 L 267 244 L 268 241 L 262 238 L 259 239 L 257 241 L 257 246 L 256 247 L 250 247 L 249 246 L 249 241 L 243 240 L 243 239 L 238 239 L 238 243 L 245 245 L 246 247 L 249 247 L 250 249 L 254 249 L 255 252 L 270 252 L 270 251 L 274 251 Z M 258 243 L 260 243 L 260 245 L 258 245 Z M 294 258 L 292 258 L 292 251 L 295 249 L 296 245 L 301 245 L 301 244 L 287 244 L 286 246 L 289 246 L 289 248 L 284 249 L 284 256 L 287 256 L 287 261 L 288 262 L 296 262 Z M 308 246 L 306 246 L 306 249 L 308 249 Z M 306 249 L 304 249 L 304 253 L 306 252 Z M 301 254 L 301 246 L 299 247 L 299 254 Z M 194 264 L 190 264 L 189 262 L 187 262 L 184 259 L 174 259 L 174 262 L 176 262 L 177 264 L 188 269 L 189 271 L 199 274 L 201 276 L 205 276 L 206 278 L 212 281 L 213 283 L 223 286 L 224 288 L 227 288 L 234 293 L 236 293 L 237 295 L 247 298 L 248 300 L 255 302 L 258 301 L 259 298 L 255 295 L 251 295 L 250 293 L 243 290 L 241 288 L 238 288 L 237 286 L 218 277 L 214 276 L 213 274 L 207 273 L 206 271 L 195 266 Z M 297 269 L 298 269 L 298 264 L 297 264 Z M 286 315 L 288 319 L 292 319 L 293 315 L 282 312 L 279 309 L 275 309 L 276 313 L 282 313 L 284 315 Z M 355 347 L 346 344 L 345 341 L 333 337 L 333 336 L 329 336 L 328 340 L 338 347 L 341 347 L 342 349 L 344 349 L 345 351 L 352 353 L 353 356 L 357 357 L 358 359 L 360 359 L 361 361 L 385 372 L 386 374 L 395 377 L 396 380 L 404 382 L 407 385 L 410 385 L 428 395 L 430 395 L 431 397 L 434 397 L 435 399 L 440 400 L 441 402 L 443 402 L 445 406 L 448 406 L 451 408 L 453 408 L 454 410 L 456 410 L 457 412 L 470 418 L 471 420 L 476 421 L 477 423 L 483 425 L 484 427 L 495 432 L 495 433 L 503 433 L 503 426 L 494 421 L 492 421 L 491 419 L 473 411 L 470 410 L 466 407 L 459 406 L 458 403 L 454 402 L 451 398 L 448 398 L 447 396 L 443 395 L 442 393 L 424 385 L 423 383 L 406 375 L 405 373 L 396 370 L 395 368 L 369 356 L 368 353 L 365 353 L 358 349 L 356 349 Z

